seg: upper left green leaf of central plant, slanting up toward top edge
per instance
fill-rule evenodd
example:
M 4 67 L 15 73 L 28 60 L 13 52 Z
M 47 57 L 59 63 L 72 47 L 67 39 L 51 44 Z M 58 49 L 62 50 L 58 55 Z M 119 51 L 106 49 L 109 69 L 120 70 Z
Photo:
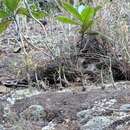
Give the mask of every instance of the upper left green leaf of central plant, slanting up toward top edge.
M 68 11 L 71 15 L 73 15 L 73 17 L 77 18 L 78 20 L 82 20 L 79 12 L 77 11 L 76 8 L 73 7 L 73 5 L 69 4 L 69 3 L 66 3 L 64 2 L 63 3 L 63 7 L 66 11 Z

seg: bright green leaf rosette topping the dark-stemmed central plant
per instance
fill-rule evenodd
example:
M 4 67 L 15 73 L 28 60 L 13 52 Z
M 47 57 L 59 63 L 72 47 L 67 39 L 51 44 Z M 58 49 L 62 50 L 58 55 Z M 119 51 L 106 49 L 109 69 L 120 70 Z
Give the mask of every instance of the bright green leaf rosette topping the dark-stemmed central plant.
M 80 33 L 85 33 L 91 29 L 94 23 L 94 17 L 101 7 L 84 6 L 81 13 L 69 3 L 63 3 L 63 8 L 70 14 L 71 18 L 58 16 L 57 19 L 66 24 L 79 25 L 81 27 Z

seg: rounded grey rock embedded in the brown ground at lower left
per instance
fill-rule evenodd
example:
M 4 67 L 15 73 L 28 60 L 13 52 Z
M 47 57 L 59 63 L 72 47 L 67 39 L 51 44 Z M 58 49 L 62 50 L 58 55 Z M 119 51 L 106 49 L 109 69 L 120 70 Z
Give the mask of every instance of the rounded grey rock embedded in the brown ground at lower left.
M 45 119 L 46 112 L 41 105 L 31 105 L 21 113 L 21 116 L 27 120 Z

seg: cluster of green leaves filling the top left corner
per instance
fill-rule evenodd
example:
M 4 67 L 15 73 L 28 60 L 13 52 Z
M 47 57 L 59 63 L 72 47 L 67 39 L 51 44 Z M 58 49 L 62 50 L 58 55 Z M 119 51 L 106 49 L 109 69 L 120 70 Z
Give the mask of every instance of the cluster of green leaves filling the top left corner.
M 2 8 L 0 9 L 0 33 L 5 31 L 9 25 L 15 21 L 17 15 L 24 15 L 27 17 L 35 17 L 42 19 L 46 13 L 38 10 L 35 4 L 30 6 L 29 10 L 23 6 L 24 0 L 2 0 Z

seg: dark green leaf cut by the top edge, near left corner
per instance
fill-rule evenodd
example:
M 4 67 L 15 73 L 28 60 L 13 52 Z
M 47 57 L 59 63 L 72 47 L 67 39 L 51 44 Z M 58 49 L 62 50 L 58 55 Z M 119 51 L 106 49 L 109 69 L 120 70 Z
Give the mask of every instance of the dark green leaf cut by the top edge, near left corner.
M 6 7 L 12 12 L 17 8 L 20 2 L 20 0 L 3 0 L 3 1 Z

